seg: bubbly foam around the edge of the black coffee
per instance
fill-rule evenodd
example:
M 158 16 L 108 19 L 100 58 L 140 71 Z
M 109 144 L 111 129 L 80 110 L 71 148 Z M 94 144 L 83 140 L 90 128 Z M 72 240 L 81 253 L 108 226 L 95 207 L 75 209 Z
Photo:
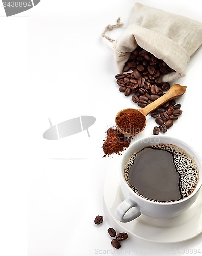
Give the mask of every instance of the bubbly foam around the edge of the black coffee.
M 181 194 L 183 197 L 182 199 L 188 197 L 195 189 L 195 187 L 198 183 L 198 179 L 199 179 L 198 165 L 195 162 L 194 158 L 191 157 L 182 148 L 172 145 L 172 144 L 154 144 L 154 145 L 150 146 L 150 148 L 166 150 L 166 151 L 172 153 L 174 165 L 176 167 L 177 172 L 180 175 L 179 186 L 180 186 Z M 141 150 L 139 150 L 136 153 L 134 153 L 133 155 L 131 155 L 131 157 L 127 161 L 127 164 L 125 165 L 125 180 L 127 181 L 128 184 L 129 184 L 128 174 L 130 171 L 130 167 L 133 165 L 134 160 L 140 151 Z M 138 191 L 135 187 L 131 186 L 130 184 L 129 184 L 129 186 L 136 194 L 138 194 L 141 197 L 144 197 L 138 193 Z M 148 199 L 148 198 L 146 198 L 146 199 Z M 182 199 L 180 199 L 180 200 L 182 200 Z M 148 200 L 158 202 L 158 201 L 152 200 L 152 199 L 148 199 Z M 175 201 L 173 201 L 173 202 L 175 202 Z

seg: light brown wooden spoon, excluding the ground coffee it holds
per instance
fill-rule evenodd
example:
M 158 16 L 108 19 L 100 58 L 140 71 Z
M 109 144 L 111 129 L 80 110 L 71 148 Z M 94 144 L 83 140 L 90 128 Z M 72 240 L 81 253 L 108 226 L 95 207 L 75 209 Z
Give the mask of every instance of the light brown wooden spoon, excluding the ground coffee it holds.
M 180 86 L 180 84 L 174 84 L 167 91 L 167 93 L 165 93 L 163 96 L 159 97 L 158 99 L 156 99 L 155 101 L 153 101 L 152 103 L 150 103 L 149 105 L 145 106 L 142 109 L 129 108 L 129 109 L 123 109 L 119 111 L 115 119 L 118 130 L 125 135 L 135 135 L 140 133 L 142 130 L 144 130 L 146 126 L 146 116 L 149 113 L 153 112 L 153 110 L 157 109 L 159 106 L 163 105 L 167 101 L 178 98 L 179 96 L 183 95 L 186 91 L 186 88 L 187 88 L 186 86 Z M 123 131 L 121 127 L 117 125 L 117 118 L 120 117 L 121 113 L 132 113 L 132 112 L 135 112 L 136 114 L 141 115 L 140 117 L 145 120 L 144 125 L 143 127 L 138 127 L 138 129 L 135 129 L 134 131 L 130 131 L 130 132 Z

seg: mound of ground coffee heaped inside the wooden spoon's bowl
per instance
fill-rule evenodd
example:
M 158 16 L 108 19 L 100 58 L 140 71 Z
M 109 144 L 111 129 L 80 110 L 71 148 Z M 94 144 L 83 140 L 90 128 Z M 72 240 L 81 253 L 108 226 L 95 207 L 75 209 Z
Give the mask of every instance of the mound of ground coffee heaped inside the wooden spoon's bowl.
M 145 117 L 140 112 L 121 112 L 120 116 L 116 118 L 118 127 L 127 133 L 134 134 L 144 129 Z

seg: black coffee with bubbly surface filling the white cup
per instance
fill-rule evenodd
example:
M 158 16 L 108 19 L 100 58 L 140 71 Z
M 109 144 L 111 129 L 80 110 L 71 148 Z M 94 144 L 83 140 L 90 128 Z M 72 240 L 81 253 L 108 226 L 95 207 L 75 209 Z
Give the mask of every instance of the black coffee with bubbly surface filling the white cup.
M 136 194 L 158 202 L 189 196 L 199 178 L 198 166 L 187 152 L 171 144 L 155 144 L 131 155 L 125 179 Z

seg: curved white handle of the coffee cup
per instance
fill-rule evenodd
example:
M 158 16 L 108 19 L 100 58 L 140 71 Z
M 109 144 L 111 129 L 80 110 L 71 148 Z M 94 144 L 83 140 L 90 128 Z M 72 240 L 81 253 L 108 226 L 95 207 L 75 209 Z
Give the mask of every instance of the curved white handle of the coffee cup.
M 127 198 L 120 203 L 115 211 L 116 218 L 123 223 L 132 221 L 140 215 L 139 206 L 131 198 Z

